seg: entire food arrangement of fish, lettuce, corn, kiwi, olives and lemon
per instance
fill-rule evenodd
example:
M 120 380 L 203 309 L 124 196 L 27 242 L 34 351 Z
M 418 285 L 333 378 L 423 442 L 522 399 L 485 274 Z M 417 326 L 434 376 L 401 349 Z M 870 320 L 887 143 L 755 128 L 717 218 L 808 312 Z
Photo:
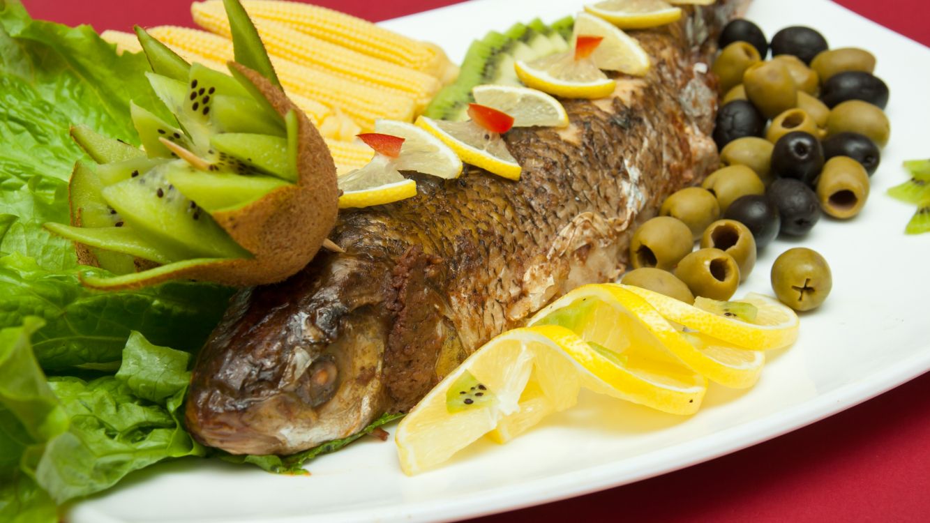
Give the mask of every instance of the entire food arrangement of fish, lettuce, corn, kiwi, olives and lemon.
M 583 388 L 684 419 L 755 385 L 891 127 L 869 51 L 747 3 L 606 0 L 458 67 L 280 0 L 100 35 L 0 0 L 0 519 L 182 456 L 306 474 L 403 417 L 413 475 Z M 735 297 L 779 236 L 774 297 Z

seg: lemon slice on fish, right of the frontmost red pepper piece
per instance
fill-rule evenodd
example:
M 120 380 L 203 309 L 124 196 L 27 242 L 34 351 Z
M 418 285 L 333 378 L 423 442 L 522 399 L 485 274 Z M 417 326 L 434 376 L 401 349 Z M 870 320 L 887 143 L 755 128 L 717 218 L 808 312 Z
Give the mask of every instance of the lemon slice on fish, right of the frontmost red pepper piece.
M 396 120 L 376 120 L 375 132 L 404 138 L 400 155 L 393 161 L 398 171 L 416 171 L 433 177 L 457 178 L 462 161 L 440 139 L 417 125 Z

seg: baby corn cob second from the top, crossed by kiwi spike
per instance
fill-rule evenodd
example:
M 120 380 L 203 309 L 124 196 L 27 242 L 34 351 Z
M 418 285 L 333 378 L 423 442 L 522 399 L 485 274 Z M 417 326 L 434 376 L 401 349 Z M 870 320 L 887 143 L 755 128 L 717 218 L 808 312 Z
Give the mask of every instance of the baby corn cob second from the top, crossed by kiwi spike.
M 224 11 L 193 9 L 193 20 L 211 33 L 232 37 L 229 18 Z M 331 44 L 284 24 L 256 20 L 255 26 L 268 54 L 272 57 L 289 59 L 299 65 L 320 69 L 353 82 L 409 96 L 417 101 L 418 111 L 430 103 L 440 88 L 439 80 L 425 72 Z

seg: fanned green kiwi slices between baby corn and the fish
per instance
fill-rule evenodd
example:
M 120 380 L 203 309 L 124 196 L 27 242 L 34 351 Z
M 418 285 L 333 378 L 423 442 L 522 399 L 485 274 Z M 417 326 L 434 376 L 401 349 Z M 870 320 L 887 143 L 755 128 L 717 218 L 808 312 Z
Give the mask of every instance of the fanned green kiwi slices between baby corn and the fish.
M 472 42 L 462 60 L 458 79 L 439 91 L 424 115 L 440 120 L 467 120 L 475 85 L 522 85 L 513 68 L 516 60 L 539 59 L 570 47 L 566 34 L 571 35 L 574 19 L 568 17 L 556 23 L 560 24 L 558 28 L 555 24 L 546 26 L 538 19 L 528 24 L 517 23 L 504 33 L 490 32 Z

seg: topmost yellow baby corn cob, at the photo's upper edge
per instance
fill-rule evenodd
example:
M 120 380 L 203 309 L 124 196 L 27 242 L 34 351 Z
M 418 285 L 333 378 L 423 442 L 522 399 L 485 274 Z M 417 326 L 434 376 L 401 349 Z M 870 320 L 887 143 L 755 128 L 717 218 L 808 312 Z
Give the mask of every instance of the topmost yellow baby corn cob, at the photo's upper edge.
M 370 57 L 396 63 L 439 77 L 448 59 L 442 49 L 428 46 L 398 33 L 339 11 L 280 0 L 244 0 L 252 20 L 270 20 L 300 33 L 348 47 Z M 208 12 L 223 12 L 222 0 L 207 0 L 191 6 L 194 20 Z

